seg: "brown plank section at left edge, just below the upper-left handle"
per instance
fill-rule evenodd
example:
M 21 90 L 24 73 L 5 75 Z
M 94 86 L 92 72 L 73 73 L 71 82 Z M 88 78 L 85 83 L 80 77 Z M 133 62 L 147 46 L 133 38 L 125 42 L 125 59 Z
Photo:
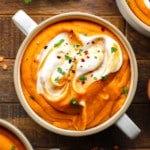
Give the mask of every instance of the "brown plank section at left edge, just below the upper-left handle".
M 10 16 L 0 17 L 0 55 L 14 58 L 23 38 L 23 34 L 18 32 Z

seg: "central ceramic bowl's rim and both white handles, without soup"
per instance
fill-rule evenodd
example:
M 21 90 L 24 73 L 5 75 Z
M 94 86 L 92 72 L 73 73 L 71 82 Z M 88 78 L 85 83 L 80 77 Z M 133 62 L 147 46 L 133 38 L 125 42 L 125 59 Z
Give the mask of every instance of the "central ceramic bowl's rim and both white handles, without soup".
M 70 20 L 70 19 L 82 19 L 86 21 L 92 21 L 92 22 L 101 24 L 105 26 L 106 28 L 108 28 L 109 30 L 111 30 L 120 39 L 120 41 L 123 43 L 125 48 L 128 50 L 128 55 L 131 61 L 131 74 L 132 74 L 131 75 L 131 88 L 129 90 L 125 104 L 114 116 L 112 116 L 110 119 L 108 119 L 104 123 L 97 125 L 96 127 L 84 130 L 84 131 L 73 131 L 73 130 L 61 129 L 61 128 L 51 125 L 50 123 L 46 122 L 44 119 L 39 117 L 27 103 L 23 95 L 23 91 L 22 91 L 21 84 L 20 84 L 21 83 L 20 64 L 21 64 L 23 53 L 25 52 L 28 43 L 32 40 L 34 36 L 36 36 L 38 32 L 43 30 L 45 27 L 53 23 L 59 22 L 59 21 L 65 21 L 65 20 Z M 15 66 L 14 66 L 15 88 L 16 88 L 16 92 L 17 92 L 17 95 L 19 97 L 19 100 L 22 106 L 24 107 L 26 112 L 35 122 L 37 122 L 42 127 L 48 129 L 49 131 L 62 134 L 62 135 L 67 135 L 67 136 L 86 136 L 86 135 L 94 134 L 94 133 L 103 131 L 104 129 L 110 127 L 113 124 L 116 124 L 131 139 L 135 138 L 140 133 L 140 129 L 125 114 L 125 111 L 130 106 L 133 100 L 135 91 L 136 91 L 137 80 L 138 80 L 137 62 L 136 62 L 134 52 L 129 42 L 114 25 L 112 25 L 108 21 L 100 17 L 97 17 L 95 15 L 81 13 L 81 12 L 70 12 L 70 13 L 60 14 L 60 15 L 51 17 L 45 20 L 44 22 L 40 23 L 39 25 L 37 25 L 36 22 L 33 21 L 24 11 L 20 10 L 13 16 L 13 21 L 19 27 L 19 29 L 25 35 L 27 35 L 26 39 L 24 40 L 24 42 L 22 43 L 18 51 L 16 61 L 15 61 Z

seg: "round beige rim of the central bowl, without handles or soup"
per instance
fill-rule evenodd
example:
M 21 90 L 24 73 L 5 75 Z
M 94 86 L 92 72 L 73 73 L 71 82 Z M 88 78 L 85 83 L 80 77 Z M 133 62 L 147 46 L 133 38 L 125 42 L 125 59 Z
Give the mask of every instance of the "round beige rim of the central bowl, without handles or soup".
M 131 70 L 132 70 L 131 79 L 132 79 L 132 81 L 131 81 L 130 86 L 132 86 L 133 88 L 130 88 L 125 104 L 122 106 L 122 108 L 116 114 L 114 114 L 111 118 L 109 118 L 104 123 L 97 125 L 96 127 L 86 129 L 84 131 L 74 131 L 74 130 L 67 130 L 67 129 L 58 128 L 58 127 L 55 127 L 54 125 L 51 125 L 50 123 L 48 123 L 44 119 L 42 119 L 38 114 L 36 114 L 31 109 L 31 107 L 29 106 L 29 104 L 25 100 L 25 97 L 24 97 L 23 92 L 21 90 L 21 84 L 20 84 L 21 58 L 23 56 L 23 53 L 24 53 L 27 45 L 31 41 L 31 39 L 34 36 L 36 36 L 36 34 L 39 31 L 41 31 L 42 29 L 44 29 L 48 25 L 51 25 L 51 24 L 56 23 L 56 22 L 72 20 L 72 19 L 81 19 L 81 20 L 86 20 L 86 21 L 92 21 L 92 22 L 101 24 L 103 26 L 106 26 L 115 35 L 117 34 L 117 37 L 123 43 L 123 45 L 125 46 L 125 49 L 127 49 L 130 60 L 132 61 L 132 64 L 131 64 Z M 107 21 L 101 17 L 98 17 L 96 15 L 93 15 L 93 14 L 89 14 L 89 13 L 85 13 L 85 12 L 67 12 L 67 13 L 55 15 L 53 17 L 46 19 L 45 21 L 42 21 L 40 24 L 38 24 L 38 26 L 33 31 L 31 31 L 31 33 L 29 35 L 27 35 L 27 37 L 25 38 L 25 40 L 21 44 L 21 46 L 18 50 L 17 56 L 16 56 L 15 65 L 14 65 L 14 84 L 15 84 L 16 93 L 17 93 L 17 96 L 19 98 L 20 103 L 22 104 L 23 108 L 26 110 L 27 114 L 37 124 L 41 125 L 43 128 L 45 128 L 49 131 L 52 131 L 52 132 L 60 134 L 60 135 L 66 135 L 66 136 L 85 136 L 86 135 L 87 136 L 87 135 L 91 135 L 94 133 L 98 133 L 98 132 L 108 128 L 109 126 L 114 124 L 125 113 L 125 111 L 129 107 L 129 105 L 131 104 L 133 97 L 134 97 L 134 94 L 135 94 L 135 91 L 136 91 L 137 79 L 138 79 L 137 69 L 138 69 L 137 68 L 137 62 L 136 62 L 136 58 L 135 58 L 133 49 L 130 46 L 129 42 L 127 41 L 126 37 L 122 34 L 121 31 L 119 31 L 119 29 L 117 29 L 117 27 L 115 27 L 109 21 Z M 131 92 L 131 90 L 132 90 L 132 92 Z

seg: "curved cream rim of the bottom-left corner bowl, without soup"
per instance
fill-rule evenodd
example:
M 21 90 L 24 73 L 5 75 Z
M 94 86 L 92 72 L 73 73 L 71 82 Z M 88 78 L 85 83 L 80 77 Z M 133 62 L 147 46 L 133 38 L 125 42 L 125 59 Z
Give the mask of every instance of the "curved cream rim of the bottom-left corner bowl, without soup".
M 17 136 L 17 138 L 21 141 L 21 143 L 25 146 L 27 150 L 29 149 L 33 150 L 29 140 L 26 138 L 24 133 L 20 129 L 18 129 L 16 126 L 14 126 L 13 124 L 11 124 L 10 122 L 4 119 L 0 119 L 0 127 L 3 127 L 4 129 L 10 131 L 12 134 Z

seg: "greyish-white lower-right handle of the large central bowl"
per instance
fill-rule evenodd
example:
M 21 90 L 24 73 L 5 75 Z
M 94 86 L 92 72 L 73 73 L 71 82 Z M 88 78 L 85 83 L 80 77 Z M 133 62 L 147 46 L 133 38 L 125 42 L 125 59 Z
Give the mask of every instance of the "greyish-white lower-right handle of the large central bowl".
M 134 139 L 141 132 L 139 127 L 137 127 L 137 125 L 128 117 L 127 114 L 123 114 L 121 118 L 116 122 L 116 125 L 130 139 Z

